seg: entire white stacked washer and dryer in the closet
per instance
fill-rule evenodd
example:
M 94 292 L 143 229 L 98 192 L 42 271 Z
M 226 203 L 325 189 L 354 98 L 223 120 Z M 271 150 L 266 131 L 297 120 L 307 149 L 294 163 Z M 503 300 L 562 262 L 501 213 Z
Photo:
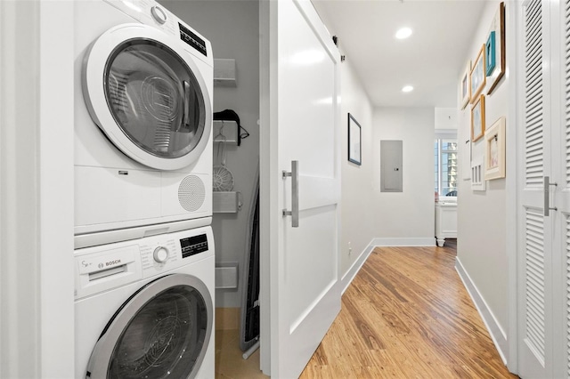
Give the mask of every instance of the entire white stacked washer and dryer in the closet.
M 214 377 L 211 45 L 152 0 L 74 7 L 76 377 Z

